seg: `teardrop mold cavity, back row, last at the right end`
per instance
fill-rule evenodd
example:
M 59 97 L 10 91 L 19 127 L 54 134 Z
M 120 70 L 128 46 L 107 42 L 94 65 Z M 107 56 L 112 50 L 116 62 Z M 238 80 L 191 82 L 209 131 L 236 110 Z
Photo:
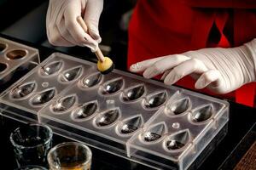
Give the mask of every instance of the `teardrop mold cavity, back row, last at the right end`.
M 196 109 L 192 113 L 192 121 L 193 122 L 204 122 L 207 121 L 213 112 L 212 105 L 205 105 L 201 108 Z

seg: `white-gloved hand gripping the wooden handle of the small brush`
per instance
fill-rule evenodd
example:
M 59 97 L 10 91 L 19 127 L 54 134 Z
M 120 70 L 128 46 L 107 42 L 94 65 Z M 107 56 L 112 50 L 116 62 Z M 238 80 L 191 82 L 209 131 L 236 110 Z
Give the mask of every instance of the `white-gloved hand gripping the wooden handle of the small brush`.
M 102 41 L 98 23 L 103 0 L 49 0 L 46 29 L 49 42 L 55 46 L 86 46 L 96 51 Z M 88 26 L 84 32 L 77 17 L 82 16 Z

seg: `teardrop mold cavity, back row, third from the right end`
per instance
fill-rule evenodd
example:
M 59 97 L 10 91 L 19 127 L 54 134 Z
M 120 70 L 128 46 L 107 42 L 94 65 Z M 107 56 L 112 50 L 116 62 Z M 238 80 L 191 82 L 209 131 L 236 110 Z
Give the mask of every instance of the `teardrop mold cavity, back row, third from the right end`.
M 158 94 L 151 95 L 148 97 L 148 99 L 146 99 L 145 106 L 146 108 L 158 107 L 166 102 L 166 98 L 166 92 L 160 92 Z

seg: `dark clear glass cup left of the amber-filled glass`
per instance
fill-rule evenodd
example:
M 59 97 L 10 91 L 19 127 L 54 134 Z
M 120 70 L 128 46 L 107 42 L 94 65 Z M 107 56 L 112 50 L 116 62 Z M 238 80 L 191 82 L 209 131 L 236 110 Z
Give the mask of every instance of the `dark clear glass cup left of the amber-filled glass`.
M 52 130 L 42 124 L 18 127 L 10 134 L 18 167 L 47 165 L 47 154 L 51 148 Z

